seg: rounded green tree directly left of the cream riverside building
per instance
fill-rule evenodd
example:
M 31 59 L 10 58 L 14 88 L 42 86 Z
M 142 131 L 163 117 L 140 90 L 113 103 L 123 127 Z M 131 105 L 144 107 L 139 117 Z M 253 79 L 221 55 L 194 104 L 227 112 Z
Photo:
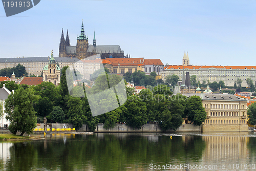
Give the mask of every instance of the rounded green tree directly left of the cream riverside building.
M 201 98 L 198 96 L 189 97 L 185 104 L 184 114 L 187 116 L 187 120 L 194 122 L 195 125 L 201 125 L 206 119 Z

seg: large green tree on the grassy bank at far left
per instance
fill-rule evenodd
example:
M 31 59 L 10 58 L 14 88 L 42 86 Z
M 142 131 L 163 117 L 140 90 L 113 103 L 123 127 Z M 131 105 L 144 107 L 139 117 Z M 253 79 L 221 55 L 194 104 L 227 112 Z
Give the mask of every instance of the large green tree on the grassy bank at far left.
M 31 134 L 36 127 L 36 112 L 33 103 L 39 99 L 34 95 L 33 89 L 24 90 L 22 87 L 17 89 L 14 94 L 8 96 L 5 101 L 6 119 L 10 121 L 8 129 L 14 135 L 20 131 L 20 136 L 26 132 Z

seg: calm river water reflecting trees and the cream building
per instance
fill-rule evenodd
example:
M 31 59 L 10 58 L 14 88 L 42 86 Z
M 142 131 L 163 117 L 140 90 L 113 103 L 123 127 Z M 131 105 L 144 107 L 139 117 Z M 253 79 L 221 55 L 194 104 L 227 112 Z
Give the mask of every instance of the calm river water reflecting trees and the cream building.
M 255 159 L 256 133 L 47 134 L 0 143 L 0 170 L 256 170 Z

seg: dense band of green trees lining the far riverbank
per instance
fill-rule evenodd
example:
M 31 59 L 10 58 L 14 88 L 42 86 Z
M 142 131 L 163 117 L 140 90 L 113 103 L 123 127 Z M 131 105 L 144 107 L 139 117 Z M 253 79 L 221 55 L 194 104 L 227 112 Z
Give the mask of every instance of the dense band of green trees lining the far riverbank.
M 188 120 L 193 121 L 196 125 L 201 125 L 206 118 L 199 97 L 193 96 L 187 99 L 186 96 L 180 94 L 173 96 L 173 90 L 166 84 L 154 86 L 154 81 L 156 81 L 156 73 L 154 72 L 149 76 L 145 76 L 140 71 L 130 75 L 126 73 L 127 81 L 130 81 L 130 78 L 133 77 L 134 82 L 138 84 L 142 82 L 153 83 L 149 83 L 150 86 L 139 93 L 135 93 L 133 88 L 126 88 L 127 100 L 121 106 L 113 108 L 114 101 L 124 100 L 120 96 L 112 95 L 109 91 L 110 88 L 115 87 L 122 80 L 119 75 L 109 75 L 103 71 L 107 75 L 99 73 L 92 88 L 78 83 L 69 92 L 67 81 L 72 82 L 73 78 L 69 77 L 67 80 L 66 70 L 69 70 L 69 68 L 62 68 L 60 85 L 57 87 L 52 82 L 42 82 L 37 86 L 19 85 L 14 88 L 15 93 L 8 97 L 8 105 L 6 105 L 8 118 L 12 122 L 10 126 L 12 133 L 15 134 L 17 131 L 31 133 L 36 119 L 38 123 L 41 123 L 44 117 L 47 117 L 48 122 L 52 123 L 72 123 L 76 130 L 80 129 L 82 124 L 87 124 L 90 131 L 95 130 L 97 123 L 104 123 L 104 128 L 110 129 L 116 126 L 117 122 L 125 122 L 134 129 L 141 129 L 141 126 L 147 122 L 157 122 L 163 131 L 176 130 L 183 123 L 184 117 L 188 117 Z M 167 84 L 176 84 L 177 81 L 178 78 L 173 76 L 170 77 Z M 6 82 L 6 85 L 8 83 L 13 84 L 9 81 Z M 93 101 L 96 106 L 95 109 L 110 109 L 106 110 L 110 112 L 93 117 L 87 95 L 90 93 L 97 96 L 100 92 L 101 98 L 96 98 Z M 70 96 L 70 93 L 73 93 L 73 96 Z M 81 94 L 83 95 L 81 96 Z M 26 111 L 21 108 L 26 109 Z M 30 116 L 29 120 L 26 120 L 26 118 L 24 118 L 26 121 L 23 120 L 24 123 L 29 121 L 29 126 L 24 124 L 20 124 L 19 127 L 14 126 L 14 122 L 20 123 L 15 119 L 22 118 L 25 115 Z M 22 130 L 21 127 L 28 128 Z

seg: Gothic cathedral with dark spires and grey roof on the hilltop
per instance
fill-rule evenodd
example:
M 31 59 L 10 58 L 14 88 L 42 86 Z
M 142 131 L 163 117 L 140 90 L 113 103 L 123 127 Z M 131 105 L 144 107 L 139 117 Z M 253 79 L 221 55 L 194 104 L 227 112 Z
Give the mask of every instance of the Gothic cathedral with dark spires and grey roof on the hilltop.
M 93 38 L 93 45 L 89 45 L 88 37 L 84 34 L 83 22 L 81 26 L 81 33 L 79 36 L 77 35 L 76 46 L 70 46 L 68 31 L 65 40 L 62 29 L 59 43 L 59 57 L 76 57 L 81 60 L 96 54 L 100 54 L 102 59 L 128 57 L 123 55 L 123 51 L 121 50 L 119 45 L 96 45 L 95 32 Z

